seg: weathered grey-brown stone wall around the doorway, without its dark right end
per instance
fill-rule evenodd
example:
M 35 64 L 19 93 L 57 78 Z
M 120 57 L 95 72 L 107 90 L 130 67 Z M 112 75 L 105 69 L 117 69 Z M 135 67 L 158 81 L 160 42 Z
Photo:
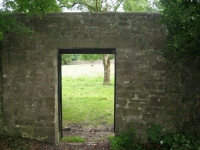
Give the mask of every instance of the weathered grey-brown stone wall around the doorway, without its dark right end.
M 35 33 L 4 36 L 4 134 L 58 142 L 60 48 L 116 48 L 116 134 L 134 127 L 142 140 L 151 124 L 168 131 L 180 129 L 174 125 L 176 103 L 166 91 L 173 78 L 166 78 L 166 62 L 159 55 L 166 40 L 165 26 L 158 23 L 161 15 L 62 13 L 41 20 L 16 18 Z

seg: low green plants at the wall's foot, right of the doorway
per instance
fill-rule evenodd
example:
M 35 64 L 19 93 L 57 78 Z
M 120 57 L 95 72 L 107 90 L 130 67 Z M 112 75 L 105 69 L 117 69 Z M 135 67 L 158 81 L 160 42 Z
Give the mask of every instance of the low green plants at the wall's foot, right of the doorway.
M 110 137 L 112 150 L 199 150 L 200 135 L 186 133 L 164 133 L 159 125 L 151 125 L 146 129 L 147 143 L 135 142 L 136 132 L 131 129 L 128 133 Z

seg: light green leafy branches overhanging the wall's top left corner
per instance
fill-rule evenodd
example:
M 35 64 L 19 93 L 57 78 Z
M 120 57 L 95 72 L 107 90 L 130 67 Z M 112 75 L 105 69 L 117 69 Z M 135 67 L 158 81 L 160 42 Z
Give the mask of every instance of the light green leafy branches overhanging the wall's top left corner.
M 45 13 L 61 11 L 56 0 L 4 0 L 2 5 L 3 7 L 0 9 L 0 42 L 3 32 L 6 31 L 22 34 L 32 33 L 11 14 L 21 12 L 28 16 L 37 15 L 41 18 Z

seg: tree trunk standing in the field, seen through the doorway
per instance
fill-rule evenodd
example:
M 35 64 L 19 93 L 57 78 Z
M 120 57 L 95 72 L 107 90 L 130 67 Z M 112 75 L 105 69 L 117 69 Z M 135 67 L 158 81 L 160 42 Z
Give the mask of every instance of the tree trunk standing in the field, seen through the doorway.
M 109 54 L 103 54 L 104 79 L 103 84 L 110 84 L 110 59 Z

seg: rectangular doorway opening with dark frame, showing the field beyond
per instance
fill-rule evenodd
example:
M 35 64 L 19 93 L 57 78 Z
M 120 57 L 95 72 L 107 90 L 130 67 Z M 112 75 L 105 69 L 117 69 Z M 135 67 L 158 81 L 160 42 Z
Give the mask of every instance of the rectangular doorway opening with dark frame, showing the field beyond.
M 115 49 L 59 49 L 59 132 L 69 142 L 114 135 Z M 77 140 L 77 141 L 76 141 Z

